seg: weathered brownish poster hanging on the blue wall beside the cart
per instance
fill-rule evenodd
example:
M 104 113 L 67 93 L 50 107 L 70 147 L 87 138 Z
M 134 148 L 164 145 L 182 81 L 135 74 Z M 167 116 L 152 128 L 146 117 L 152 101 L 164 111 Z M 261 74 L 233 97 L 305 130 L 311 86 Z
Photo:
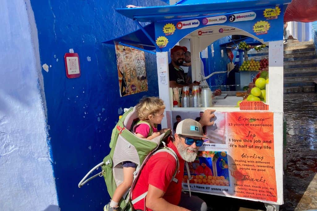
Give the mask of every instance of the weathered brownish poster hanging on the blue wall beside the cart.
M 138 46 L 139 47 L 139 46 Z M 145 54 L 115 42 L 120 96 L 147 91 Z

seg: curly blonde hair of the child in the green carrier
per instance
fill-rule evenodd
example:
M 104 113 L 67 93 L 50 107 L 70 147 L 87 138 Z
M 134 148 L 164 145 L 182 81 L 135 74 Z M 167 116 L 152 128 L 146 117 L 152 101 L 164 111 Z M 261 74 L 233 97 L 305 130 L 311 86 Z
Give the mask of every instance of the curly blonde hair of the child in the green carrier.
M 136 111 L 142 121 L 149 121 L 149 115 L 155 117 L 160 109 L 165 109 L 165 104 L 158 97 L 143 97 L 136 105 Z

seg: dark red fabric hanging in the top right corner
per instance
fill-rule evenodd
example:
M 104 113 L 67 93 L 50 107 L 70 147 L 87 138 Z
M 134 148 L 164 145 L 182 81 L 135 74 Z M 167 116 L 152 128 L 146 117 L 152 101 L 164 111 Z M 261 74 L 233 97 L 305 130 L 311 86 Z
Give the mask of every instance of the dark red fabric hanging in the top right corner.
M 284 14 L 284 22 L 313 22 L 317 21 L 316 0 L 292 0 Z

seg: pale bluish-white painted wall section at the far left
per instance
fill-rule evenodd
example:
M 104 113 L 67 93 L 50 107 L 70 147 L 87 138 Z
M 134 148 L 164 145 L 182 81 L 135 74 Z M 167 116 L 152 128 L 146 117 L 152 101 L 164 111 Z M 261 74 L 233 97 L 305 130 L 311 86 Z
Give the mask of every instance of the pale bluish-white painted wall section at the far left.
M 3 0 L 0 6 L 0 210 L 58 210 L 29 5 Z

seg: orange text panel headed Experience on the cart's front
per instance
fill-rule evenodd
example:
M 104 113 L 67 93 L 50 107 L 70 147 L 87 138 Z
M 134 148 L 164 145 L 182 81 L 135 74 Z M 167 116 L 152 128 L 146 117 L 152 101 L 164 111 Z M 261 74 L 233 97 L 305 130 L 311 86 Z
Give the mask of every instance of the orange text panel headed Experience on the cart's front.
M 273 113 L 228 113 L 227 120 L 235 195 L 276 202 Z

